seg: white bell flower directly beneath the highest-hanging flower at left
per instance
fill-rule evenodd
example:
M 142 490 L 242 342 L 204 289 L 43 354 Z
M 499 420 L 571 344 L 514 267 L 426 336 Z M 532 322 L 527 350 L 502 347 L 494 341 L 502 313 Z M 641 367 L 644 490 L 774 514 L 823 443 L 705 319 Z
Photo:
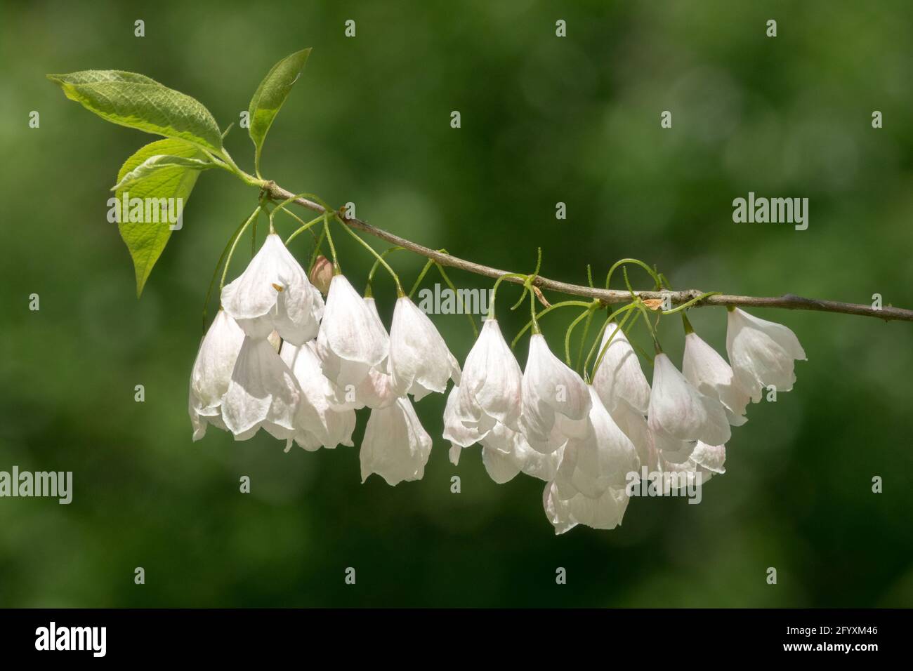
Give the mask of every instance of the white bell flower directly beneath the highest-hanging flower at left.
M 247 440 L 261 426 L 280 440 L 294 437 L 300 401 L 295 376 L 269 341 L 247 336 L 222 397 L 222 419 L 235 440 Z

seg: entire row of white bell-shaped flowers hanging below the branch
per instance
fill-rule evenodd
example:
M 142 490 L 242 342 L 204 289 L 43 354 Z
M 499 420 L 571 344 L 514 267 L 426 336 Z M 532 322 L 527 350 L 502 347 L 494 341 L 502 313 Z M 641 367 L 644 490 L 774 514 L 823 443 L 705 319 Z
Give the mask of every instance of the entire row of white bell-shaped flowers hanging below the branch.
M 521 370 L 488 319 L 460 370 L 446 342 L 411 299 L 396 300 L 390 332 L 373 298 L 341 274 L 326 303 L 281 239 L 270 234 L 244 273 L 222 291 L 190 381 L 194 440 L 206 425 L 247 440 L 259 428 L 305 450 L 352 446 L 355 410 L 371 410 L 361 446 L 362 482 L 390 485 L 425 473 L 432 439 L 412 402 L 445 393 L 444 438 L 456 464 L 481 445 L 495 482 L 520 472 L 545 481 L 543 506 L 556 532 L 577 524 L 613 529 L 632 473 L 724 472 L 730 426 L 773 386 L 789 391 L 805 352 L 792 330 L 729 310 L 729 362 L 687 333 L 682 371 L 656 354 L 647 382 L 624 331 L 609 322 L 592 382 L 530 336 Z

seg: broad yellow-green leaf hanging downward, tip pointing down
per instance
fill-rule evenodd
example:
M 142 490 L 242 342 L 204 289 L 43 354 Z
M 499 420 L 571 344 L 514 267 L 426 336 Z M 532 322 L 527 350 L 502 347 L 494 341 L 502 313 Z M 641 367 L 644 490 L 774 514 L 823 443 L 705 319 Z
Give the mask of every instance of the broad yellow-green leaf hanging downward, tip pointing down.
M 191 168 L 182 164 L 163 165 L 133 181 L 127 187 L 121 187 L 121 183 L 128 174 L 135 173 L 144 163 L 159 156 L 189 161 L 200 161 L 205 158 L 205 154 L 198 147 L 183 140 L 159 140 L 145 145 L 127 159 L 118 172 L 118 189 L 115 196 L 121 204 L 124 194 L 127 194 L 129 200 L 134 198 L 181 198 L 182 203 L 187 204 L 196 178 L 200 174 L 200 170 L 195 167 Z M 139 298 L 142 288 L 145 287 L 146 280 L 152 272 L 152 267 L 162 256 L 163 249 L 171 237 L 170 223 L 167 219 L 158 224 L 131 223 L 129 208 L 124 212 L 121 207 L 121 222 L 118 224 L 118 230 L 133 259 L 133 267 L 136 271 L 136 297 Z

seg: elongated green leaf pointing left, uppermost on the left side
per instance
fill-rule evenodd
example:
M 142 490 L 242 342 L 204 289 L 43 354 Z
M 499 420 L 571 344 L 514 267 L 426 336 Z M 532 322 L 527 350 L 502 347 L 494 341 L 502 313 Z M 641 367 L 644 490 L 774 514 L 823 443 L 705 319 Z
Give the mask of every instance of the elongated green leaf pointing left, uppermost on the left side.
M 83 70 L 47 79 L 105 121 L 222 151 L 219 126 L 203 103 L 154 79 L 120 70 Z

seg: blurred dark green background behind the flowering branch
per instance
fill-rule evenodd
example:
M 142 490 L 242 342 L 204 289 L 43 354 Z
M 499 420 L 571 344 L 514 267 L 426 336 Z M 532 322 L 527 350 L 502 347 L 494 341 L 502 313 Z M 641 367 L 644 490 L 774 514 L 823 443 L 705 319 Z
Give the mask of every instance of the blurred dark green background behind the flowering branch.
M 138 18 L 146 37 L 133 36 Z M 343 36 L 350 18 L 354 38 Z M 701 505 L 635 499 L 612 531 L 555 537 L 542 483 L 495 485 L 477 447 L 452 467 L 437 394 L 418 404 L 435 437 L 425 478 L 396 488 L 360 484 L 357 448 L 283 454 L 268 435 L 235 443 L 213 429 L 194 445 L 186 392 L 205 290 L 257 192 L 205 173 L 137 301 L 106 200 L 121 162 L 152 138 L 101 121 L 44 77 L 139 71 L 203 101 L 225 128 L 273 63 L 310 46 L 263 160 L 292 191 L 353 201 L 375 225 L 495 267 L 529 272 L 542 246 L 542 274 L 578 283 L 586 264 L 600 281 L 631 256 L 676 288 L 862 303 L 877 292 L 909 308 L 911 20 L 899 0 L 4 3 L 0 469 L 72 470 L 74 498 L 0 499 L 0 605 L 913 604 L 913 324 L 757 310 L 808 352 L 794 391 L 750 407 Z M 252 170 L 246 131 L 226 147 Z M 733 224 L 732 199 L 749 191 L 810 198 L 808 230 Z M 371 259 L 337 238 L 361 289 Z M 392 260 L 411 284 L 422 259 Z M 40 311 L 28 310 L 31 293 Z M 389 320 L 390 281 L 375 293 Z M 512 336 L 526 313 L 507 310 L 517 288 L 502 295 Z M 724 311 L 691 315 L 722 348 Z M 553 350 L 574 316 L 544 318 Z M 435 320 L 462 362 L 465 318 Z M 680 362 L 680 322 L 666 322 Z M 133 583 L 137 566 L 145 585 Z M 355 586 L 343 582 L 349 566 Z

